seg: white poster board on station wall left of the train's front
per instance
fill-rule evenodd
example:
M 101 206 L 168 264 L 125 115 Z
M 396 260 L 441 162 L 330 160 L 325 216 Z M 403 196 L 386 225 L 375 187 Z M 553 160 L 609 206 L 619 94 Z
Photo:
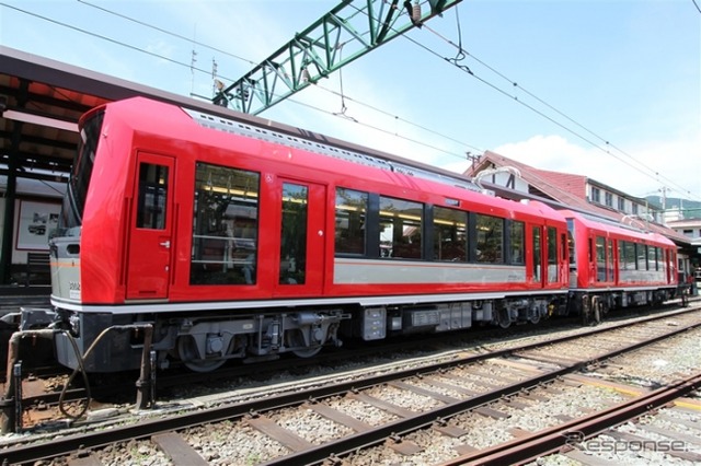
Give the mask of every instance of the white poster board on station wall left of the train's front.
M 48 251 L 48 237 L 58 226 L 60 210 L 60 203 L 20 201 L 15 248 Z

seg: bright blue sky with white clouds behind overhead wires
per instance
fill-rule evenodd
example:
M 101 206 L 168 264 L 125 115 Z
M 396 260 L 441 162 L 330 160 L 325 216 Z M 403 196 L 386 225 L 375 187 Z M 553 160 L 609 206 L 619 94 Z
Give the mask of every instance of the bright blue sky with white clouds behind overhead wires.
M 228 84 L 336 4 L 2 0 L 0 43 L 210 96 L 212 60 Z M 665 187 L 701 200 L 701 13 L 692 0 L 463 0 L 427 26 L 260 116 L 459 172 L 466 152 L 491 150 L 633 196 Z M 457 54 L 447 40 L 461 40 L 461 63 L 474 75 L 443 58 Z M 203 71 L 189 67 L 193 50 Z M 334 115 L 341 78 L 353 119 Z

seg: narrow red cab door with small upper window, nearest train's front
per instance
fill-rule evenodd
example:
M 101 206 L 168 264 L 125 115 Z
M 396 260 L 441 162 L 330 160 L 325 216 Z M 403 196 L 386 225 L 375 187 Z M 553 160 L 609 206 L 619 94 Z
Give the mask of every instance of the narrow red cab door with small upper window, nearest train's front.
M 139 153 L 129 219 L 126 298 L 168 296 L 173 228 L 173 171 L 169 156 Z

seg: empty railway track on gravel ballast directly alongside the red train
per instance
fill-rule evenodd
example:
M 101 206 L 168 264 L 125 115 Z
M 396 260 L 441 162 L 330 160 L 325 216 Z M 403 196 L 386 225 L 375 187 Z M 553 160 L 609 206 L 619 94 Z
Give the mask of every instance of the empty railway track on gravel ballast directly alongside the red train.
M 100 448 L 105 445 L 124 445 L 135 439 L 146 439 L 138 443 L 145 454 L 165 452 L 161 455 L 171 459 L 163 464 L 226 464 L 217 456 L 221 453 L 216 453 L 225 444 L 241 446 L 239 456 L 228 457 L 228 464 L 315 464 L 346 454 L 363 455 L 368 447 L 378 448 L 372 445 L 411 457 L 422 451 L 420 443 L 411 440 L 415 432 L 430 431 L 457 439 L 459 444 L 467 430 L 453 423 L 457 417 L 471 413 L 502 419 L 507 415 L 494 404 L 507 403 L 509 409 L 518 409 L 538 403 L 539 398 L 547 398 L 538 395 L 539 389 L 556 392 L 582 385 L 581 381 L 567 378 L 571 374 L 585 368 L 600 368 L 601 361 L 636 349 L 664 345 L 675 335 L 699 326 L 701 315 L 687 312 L 648 318 L 636 325 L 596 328 L 548 342 L 490 351 L 479 348 L 420 369 L 377 371 L 364 378 L 358 378 L 359 374 L 345 374 L 346 380 L 334 384 L 314 381 L 297 392 L 235 404 L 215 403 L 217 406 L 179 416 L 164 415 L 163 419 L 68 435 L 48 445 L 9 445 L 0 450 L 0 458 L 11 464 L 66 455 L 99 458 Z M 687 381 L 676 395 L 665 396 L 671 399 L 696 387 L 698 381 Z M 317 432 L 324 433 L 304 432 L 314 430 L 314 426 Z M 214 445 L 203 445 L 203 432 L 210 434 L 218 429 L 221 445 L 216 441 Z M 233 431 L 237 433 L 232 434 Z M 566 443 L 567 439 L 560 436 Z M 260 445 L 261 450 L 246 451 L 244 445 Z M 460 451 L 456 448 L 457 453 Z

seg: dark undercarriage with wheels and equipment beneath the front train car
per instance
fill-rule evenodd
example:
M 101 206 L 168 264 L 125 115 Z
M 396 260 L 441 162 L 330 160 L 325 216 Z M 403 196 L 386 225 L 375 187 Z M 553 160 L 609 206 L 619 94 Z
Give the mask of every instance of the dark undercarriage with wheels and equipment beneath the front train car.
M 165 369 L 180 361 L 192 371 L 214 371 L 231 359 L 265 360 L 281 353 L 315 356 L 324 346 L 342 346 L 345 338 L 365 341 L 468 329 L 473 325 L 503 328 L 537 324 L 566 312 L 564 294 L 430 304 L 345 305 L 285 308 L 242 315 L 73 313 L 59 311 L 55 328 L 58 361 L 87 372 L 138 369 L 145 348 L 143 326 L 152 328 L 150 351 Z M 80 360 L 79 360 L 80 358 Z

